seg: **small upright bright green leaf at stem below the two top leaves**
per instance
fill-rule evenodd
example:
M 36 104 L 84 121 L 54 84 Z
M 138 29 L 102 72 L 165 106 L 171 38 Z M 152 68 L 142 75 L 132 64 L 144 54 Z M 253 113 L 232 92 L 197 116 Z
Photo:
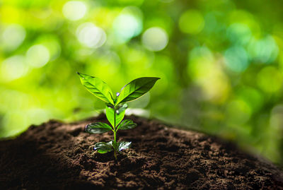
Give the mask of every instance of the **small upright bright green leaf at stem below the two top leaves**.
M 106 105 L 106 117 L 112 126 L 116 127 L 118 124 L 120 124 L 125 116 L 126 109 L 127 104 L 117 107 L 114 125 L 114 107 Z

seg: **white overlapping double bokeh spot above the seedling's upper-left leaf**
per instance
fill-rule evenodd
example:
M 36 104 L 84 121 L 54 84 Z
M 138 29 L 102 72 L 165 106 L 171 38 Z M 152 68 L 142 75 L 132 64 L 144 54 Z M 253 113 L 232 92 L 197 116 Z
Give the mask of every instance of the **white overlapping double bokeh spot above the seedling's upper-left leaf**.
M 93 23 L 83 23 L 76 30 L 76 37 L 86 47 L 98 48 L 106 41 L 106 34 L 102 28 Z

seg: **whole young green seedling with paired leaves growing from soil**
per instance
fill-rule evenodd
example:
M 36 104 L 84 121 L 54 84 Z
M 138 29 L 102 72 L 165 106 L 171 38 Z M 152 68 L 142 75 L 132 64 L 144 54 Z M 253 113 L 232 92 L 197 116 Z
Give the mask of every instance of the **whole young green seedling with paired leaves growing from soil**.
M 91 92 L 96 97 L 100 98 L 106 103 L 106 117 L 110 125 L 103 122 L 96 122 L 93 124 L 86 125 L 86 132 L 95 133 L 105 133 L 112 131 L 114 133 L 114 139 L 108 143 L 99 142 L 94 145 L 94 150 L 98 153 L 108 153 L 114 151 L 115 159 L 117 160 L 117 153 L 121 150 L 130 148 L 132 142 L 120 141 L 117 142 L 117 131 L 119 129 L 133 129 L 137 126 L 132 120 L 125 119 L 125 111 L 127 109 L 127 103 L 129 101 L 135 100 L 141 95 L 147 93 L 160 78 L 156 77 L 142 77 L 134 79 L 127 85 L 125 85 L 120 93 L 116 93 L 114 96 L 110 87 L 101 81 L 99 78 L 88 76 L 83 73 L 79 73 L 81 83 L 86 89 Z

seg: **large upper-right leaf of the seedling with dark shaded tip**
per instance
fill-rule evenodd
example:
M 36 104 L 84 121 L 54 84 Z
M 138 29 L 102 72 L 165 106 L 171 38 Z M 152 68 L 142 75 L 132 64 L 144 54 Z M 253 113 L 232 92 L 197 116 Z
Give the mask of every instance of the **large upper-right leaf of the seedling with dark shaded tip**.
M 141 97 L 141 95 L 147 93 L 154 86 L 158 79 L 160 78 L 142 77 L 134 79 L 134 81 L 125 85 L 120 93 L 117 93 L 117 102 L 115 102 L 115 105 Z

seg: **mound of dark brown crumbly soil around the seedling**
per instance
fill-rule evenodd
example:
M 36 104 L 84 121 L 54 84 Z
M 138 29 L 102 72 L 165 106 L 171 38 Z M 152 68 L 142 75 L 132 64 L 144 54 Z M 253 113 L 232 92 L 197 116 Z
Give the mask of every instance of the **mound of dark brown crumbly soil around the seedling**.
M 84 126 L 49 121 L 0 142 L 0 189 L 283 189 L 283 173 L 231 143 L 158 121 L 130 117 L 136 129 L 120 131 L 132 141 L 115 161 L 89 146 L 112 133 L 91 135 Z

